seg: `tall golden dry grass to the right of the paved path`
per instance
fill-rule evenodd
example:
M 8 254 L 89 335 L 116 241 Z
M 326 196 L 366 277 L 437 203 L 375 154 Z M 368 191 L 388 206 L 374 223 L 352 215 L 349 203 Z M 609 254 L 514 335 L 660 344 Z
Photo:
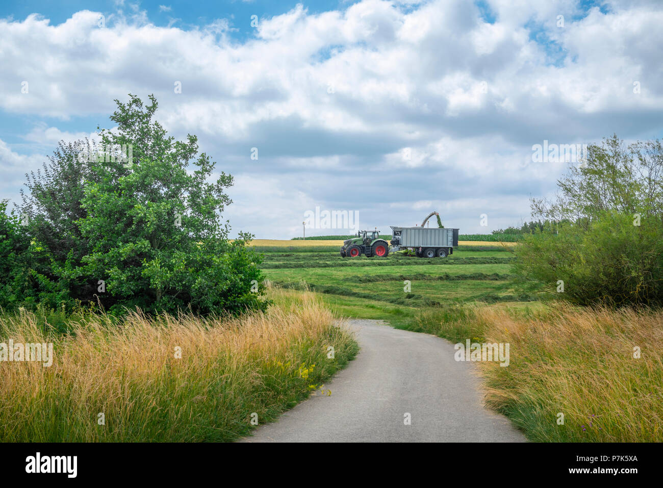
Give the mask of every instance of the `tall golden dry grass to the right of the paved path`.
M 422 316 L 418 330 L 454 342 L 510 343 L 508 367 L 476 364 L 487 404 L 530 440 L 663 441 L 663 310 L 477 306 L 445 313 Z

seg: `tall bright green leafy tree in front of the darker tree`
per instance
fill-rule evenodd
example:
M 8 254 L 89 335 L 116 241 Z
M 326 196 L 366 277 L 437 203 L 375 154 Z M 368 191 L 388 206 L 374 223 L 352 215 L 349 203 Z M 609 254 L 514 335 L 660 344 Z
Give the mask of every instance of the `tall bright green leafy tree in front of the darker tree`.
M 260 257 L 246 247 L 252 236 L 240 233 L 231 242 L 229 223 L 221 222 L 232 176 L 211 180 L 215 163 L 205 153 L 196 158 L 197 138 L 175 141 L 152 120 L 153 96 L 147 106 L 129 96 L 126 104 L 116 100 L 117 129 L 102 130 L 101 143 L 104 153 L 131 149 L 133 160 L 104 157 L 94 166 L 96 178 L 85 182 L 86 215 L 76 223 L 91 251 L 68 276 L 86 277 L 111 309 L 264 309 Z

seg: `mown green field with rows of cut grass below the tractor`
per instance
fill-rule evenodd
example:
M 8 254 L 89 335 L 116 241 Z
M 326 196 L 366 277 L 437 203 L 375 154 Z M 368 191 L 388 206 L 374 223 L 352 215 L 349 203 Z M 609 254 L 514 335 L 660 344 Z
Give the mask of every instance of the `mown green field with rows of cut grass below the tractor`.
M 353 318 L 389 320 L 405 326 L 421 310 L 465 303 L 522 306 L 511 284 L 513 255 L 503 247 L 460 247 L 446 258 L 365 256 L 343 258 L 328 245 L 255 248 L 261 269 L 275 286 L 320 293 L 336 312 Z M 407 288 L 406 280 L 409 281 Z

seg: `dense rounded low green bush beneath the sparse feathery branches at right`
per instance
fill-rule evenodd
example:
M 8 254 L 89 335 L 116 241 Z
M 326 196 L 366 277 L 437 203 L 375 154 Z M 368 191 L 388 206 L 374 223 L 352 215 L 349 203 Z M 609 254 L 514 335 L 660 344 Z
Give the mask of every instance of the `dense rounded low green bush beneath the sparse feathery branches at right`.
M 516 249 L 521 279 L 548 296 L 575 304 L 663 304 L 663 225 L 632 215 L 609 215 L 588 228 L 569 225 L 558 235 L 527 236 Z

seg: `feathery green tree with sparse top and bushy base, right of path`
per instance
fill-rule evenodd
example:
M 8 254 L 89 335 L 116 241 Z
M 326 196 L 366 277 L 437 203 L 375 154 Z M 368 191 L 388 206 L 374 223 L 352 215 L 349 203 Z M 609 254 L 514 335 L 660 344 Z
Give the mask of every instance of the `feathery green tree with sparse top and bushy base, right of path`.
M 514 271 L 524 288 L 576 304 L 663 304 L 663 151 L 660 141 L 590 145 L 532 214 L 556 223 L 526 235 Z M 544 226 L 546 227 L 546 226 Z

